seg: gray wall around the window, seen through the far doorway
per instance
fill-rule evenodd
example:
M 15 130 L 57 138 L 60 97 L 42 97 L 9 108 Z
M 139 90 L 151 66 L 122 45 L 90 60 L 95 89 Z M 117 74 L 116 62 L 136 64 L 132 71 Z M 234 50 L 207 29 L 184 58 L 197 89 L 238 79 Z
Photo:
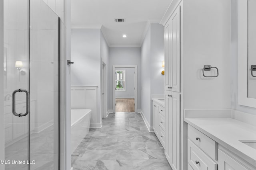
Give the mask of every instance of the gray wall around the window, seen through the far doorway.
M 116 91 L 116 98 L 134 98 L 135 68 L 117 68 L 125 71 L 125 91 Z

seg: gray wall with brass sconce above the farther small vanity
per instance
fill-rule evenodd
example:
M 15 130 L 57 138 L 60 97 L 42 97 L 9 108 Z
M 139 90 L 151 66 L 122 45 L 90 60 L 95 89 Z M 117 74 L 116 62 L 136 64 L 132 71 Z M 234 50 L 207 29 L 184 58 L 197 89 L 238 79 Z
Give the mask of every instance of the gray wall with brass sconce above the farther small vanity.
M 141 46 L 141 110 L 152 126 L 152 94 L 164 94 L 164 27 L 152 23 Z

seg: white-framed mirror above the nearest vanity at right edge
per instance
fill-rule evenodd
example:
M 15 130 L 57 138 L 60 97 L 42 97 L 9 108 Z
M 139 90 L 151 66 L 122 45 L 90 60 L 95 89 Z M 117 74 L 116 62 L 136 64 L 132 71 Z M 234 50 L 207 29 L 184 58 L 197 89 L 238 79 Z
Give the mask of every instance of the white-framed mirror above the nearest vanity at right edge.
M 256 108 L 256 1 L 238 0 L 238 104 Z

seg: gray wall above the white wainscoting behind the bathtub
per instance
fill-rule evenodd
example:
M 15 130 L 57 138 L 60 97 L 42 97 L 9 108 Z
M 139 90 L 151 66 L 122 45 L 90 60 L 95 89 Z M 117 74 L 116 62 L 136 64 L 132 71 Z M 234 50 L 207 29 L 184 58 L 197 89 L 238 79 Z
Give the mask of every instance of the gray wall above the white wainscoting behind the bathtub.
M 100 29 L 71 29 L 71 86 L 100 86 Z

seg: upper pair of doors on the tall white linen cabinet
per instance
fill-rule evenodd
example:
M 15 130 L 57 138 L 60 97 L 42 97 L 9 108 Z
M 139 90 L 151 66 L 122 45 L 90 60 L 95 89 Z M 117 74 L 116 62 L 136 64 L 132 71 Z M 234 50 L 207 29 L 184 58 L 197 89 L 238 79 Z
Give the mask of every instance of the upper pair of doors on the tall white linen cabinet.
M 165 90 L 180 92 L 180 6 L 165 25 Z

